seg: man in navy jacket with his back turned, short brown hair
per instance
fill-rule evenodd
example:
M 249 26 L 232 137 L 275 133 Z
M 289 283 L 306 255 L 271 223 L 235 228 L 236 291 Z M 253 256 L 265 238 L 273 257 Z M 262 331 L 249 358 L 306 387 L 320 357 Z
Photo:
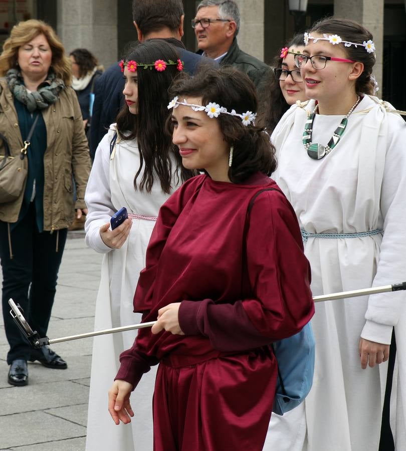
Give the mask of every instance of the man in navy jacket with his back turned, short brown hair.
M 164 39 L 177 48 L 179 59 L 184 63 L 184 70 L 190 74 L 195 72 L 202 58 L 187 51 L 180 41 L 184 19 L 181 0 L 133 0 L 132 15 L 138 41 Z M 213 63 L 209 58 L 205 60 Z M 96 81 L 89 145 L 92 160 L 99 142 L 109 125 L 115 122 L 123 105 L 123 89 L 124 79 L 118 63 L 109 67 Z

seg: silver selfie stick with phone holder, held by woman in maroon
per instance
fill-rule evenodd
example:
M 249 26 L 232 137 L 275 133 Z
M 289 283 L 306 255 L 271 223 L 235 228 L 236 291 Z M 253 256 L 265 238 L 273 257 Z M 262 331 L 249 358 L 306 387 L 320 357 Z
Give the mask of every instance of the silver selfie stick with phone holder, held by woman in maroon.
M 383 285 L 381 287 L 363 288 L 361 290 L 343 291 L 340 293 L 332 293 L 329 295 L 315 296 L 314 302 L 331 301 L 333 299 L 353 298 L 355 296 L 366 296 L 377 293 L 387 293 L 391 291 L 406 290 L 406 282 L 393 285 Z M 23 316 L 23 311 L 20 306 L 16 305 L 13 299 L 9 300 L 9 305 L 12 308 L 10 314 L 13 317 L 15 323 L 20 328 L 21 332 L 27 338 L 32 346 L 35 348 L 41 348 L 44 345 L 50 345 L 54 343 L 61 343 L 63 341 L 78 340 L 81 338 L 95 337 L 97 335 L 115 334 L 117 332 L 125 332 L 127 330 L 142 329 L 144 327 L 152 327 L 156 321 L 149 323 L 132 324 L 130 326 L 114 327 L 113 329 L 98 330 L 94 332 L 88 332 L 85 334 L 70 335 L 68 337 L 50 339 L 48 337 L 40 338 L 37 331 L 33 331 L 27 320 Z

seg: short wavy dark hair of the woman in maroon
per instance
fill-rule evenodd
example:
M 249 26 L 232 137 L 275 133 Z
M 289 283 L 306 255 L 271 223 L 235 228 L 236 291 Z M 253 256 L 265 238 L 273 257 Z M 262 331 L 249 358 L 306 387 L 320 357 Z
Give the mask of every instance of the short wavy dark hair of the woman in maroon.
M 236 110 L 244 114 L 255 113 L 258 99 L 253 82 L 247 75 L 232 67 L 220 69 L 200 66 L 193 76 L 184 74 L 177 78 L 169 89 L 170 97 L 201 97 L 202 105 L 216 102 L 228 111 Z M 228 176 L 233 183 L 242 183 L 255 172 L 266 175 L 276 169 L 275 148 L 269 135 L 258 125 L 245 126 L 238 116 L 220 114 L 217 119 L 224 140 L 234 146 L 232 167 Z M 173 131 L 171 121 L 167 121 L 169 133 Z M 210 136 L 207 138 L 210 139 Z

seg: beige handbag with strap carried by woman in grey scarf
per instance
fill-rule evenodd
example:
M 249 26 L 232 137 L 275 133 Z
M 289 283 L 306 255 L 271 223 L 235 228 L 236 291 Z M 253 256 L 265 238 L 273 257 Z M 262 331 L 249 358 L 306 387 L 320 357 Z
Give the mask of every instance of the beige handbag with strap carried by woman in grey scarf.
M 35 118 L 31 126 L 27 140 L 24 141 L 24 147 L 20 151 L 20 158 L 12 156 L 10 146 L 6 136 L 0 133 L 0 139 L 3 141 L 5 154 L 0 162 L 0 203 L 12 202 L 20 197 L 23 191 L 28 174 L 28 161 L 25 156 L 29 147 L 34 128 L 37 125 L 38 117 Z

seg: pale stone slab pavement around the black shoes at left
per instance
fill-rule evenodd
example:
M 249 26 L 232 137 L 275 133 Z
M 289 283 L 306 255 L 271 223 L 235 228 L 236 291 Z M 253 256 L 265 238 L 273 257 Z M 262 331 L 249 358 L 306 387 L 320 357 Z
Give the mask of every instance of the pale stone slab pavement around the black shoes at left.
M 93 330 L 101 260 L 86 247 L 82 231 L 68 233 L 49 338 Z M 7 382 L 8 344 L 1 323 L 0 451 L 84 451 L 92 343 L 86 338 L 54 344 L 68 368 L 29 362 L 29 385 L 13 387 Z

